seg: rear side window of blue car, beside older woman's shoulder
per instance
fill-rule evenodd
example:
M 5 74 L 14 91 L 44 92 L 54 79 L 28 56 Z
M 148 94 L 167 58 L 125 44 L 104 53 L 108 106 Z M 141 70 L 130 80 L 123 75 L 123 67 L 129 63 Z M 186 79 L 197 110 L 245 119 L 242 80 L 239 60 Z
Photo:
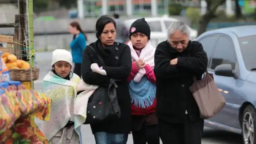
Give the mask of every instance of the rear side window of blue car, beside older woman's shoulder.
M 203 45 L 204 51 L 207 54 L 208 63 L 211 59 L 212 49 L 217 39 L 218 39 L 218 36 L 215 35 L 215 36 L 207 36 L 199 40 L 199 42 Z

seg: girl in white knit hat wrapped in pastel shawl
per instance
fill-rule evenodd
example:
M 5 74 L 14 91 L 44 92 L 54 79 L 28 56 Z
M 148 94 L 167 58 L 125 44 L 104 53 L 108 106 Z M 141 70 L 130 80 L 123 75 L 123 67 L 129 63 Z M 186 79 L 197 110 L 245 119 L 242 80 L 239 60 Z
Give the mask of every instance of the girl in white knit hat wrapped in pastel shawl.
M 81 132 L 74 129 L 74 101 L 80 77 L 71 67 L 70 52 L 61 49 L 52 52 L 52 71 L 43 80 L 43 92 L 51 98 L 51 117 L 41 127 L 50 144 L 82 143 Z

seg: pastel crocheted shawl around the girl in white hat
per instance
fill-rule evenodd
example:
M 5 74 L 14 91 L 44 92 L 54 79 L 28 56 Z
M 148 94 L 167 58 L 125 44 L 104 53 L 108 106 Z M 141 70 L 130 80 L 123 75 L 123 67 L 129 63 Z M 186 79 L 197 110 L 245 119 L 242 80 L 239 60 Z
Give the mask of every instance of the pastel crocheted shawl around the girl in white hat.
M 72 76 L 73 75 L 73 76 Z M 49 72 L 43 80 L 43 92 L 51 99 L 50 121 L 44 121 L 41 131 L 51 140 L 68 121 L 74 122 L 74 101 L 80 77 L 70 73 L 70 80 L 63 79 Z M 81 132 L 77 132 L 81 141 Z

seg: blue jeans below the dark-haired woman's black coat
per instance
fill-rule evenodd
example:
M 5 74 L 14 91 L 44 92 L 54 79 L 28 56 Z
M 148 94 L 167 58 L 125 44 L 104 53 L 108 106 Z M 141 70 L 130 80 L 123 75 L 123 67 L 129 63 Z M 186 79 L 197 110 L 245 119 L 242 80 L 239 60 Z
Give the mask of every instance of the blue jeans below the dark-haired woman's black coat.
M 95 132 L 94 138 L 96 144 L 126 144 L 128 133 Z

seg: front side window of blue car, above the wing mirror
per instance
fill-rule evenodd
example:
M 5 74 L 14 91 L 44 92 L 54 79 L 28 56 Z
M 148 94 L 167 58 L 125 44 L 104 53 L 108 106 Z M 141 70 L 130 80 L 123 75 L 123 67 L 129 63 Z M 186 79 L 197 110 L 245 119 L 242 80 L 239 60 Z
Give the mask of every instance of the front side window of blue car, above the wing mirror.
M 226 36 L 220 36 L 212 56 L 211 69 L 215 69 L 221 64 L 231 64 L 232 68 L 236 65 L 236 54 L 233 42 Z

